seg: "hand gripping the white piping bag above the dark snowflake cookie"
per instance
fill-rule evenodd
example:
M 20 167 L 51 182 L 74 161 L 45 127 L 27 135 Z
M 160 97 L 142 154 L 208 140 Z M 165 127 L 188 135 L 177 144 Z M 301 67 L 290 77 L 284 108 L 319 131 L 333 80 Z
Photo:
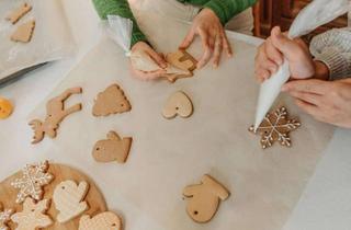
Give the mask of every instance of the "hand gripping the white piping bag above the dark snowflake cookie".
M 308 47 L 302 39 L 290 39 L 286 33 L 275 26 L 271 36 L 258 48 L 256 56 L 256 77 L 263 82 L 275 73 L 288 60 L 292 78 L 307 79 L 315 74 L 315 62 Z

